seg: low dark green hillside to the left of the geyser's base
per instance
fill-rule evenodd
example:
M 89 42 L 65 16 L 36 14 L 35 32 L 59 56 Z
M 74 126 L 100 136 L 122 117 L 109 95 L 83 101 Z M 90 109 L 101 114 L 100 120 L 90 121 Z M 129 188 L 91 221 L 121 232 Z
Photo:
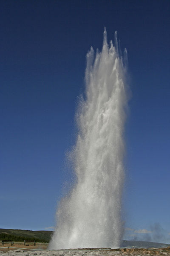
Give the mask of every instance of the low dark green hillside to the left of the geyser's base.
M 53 231 L 32 231 L 32 230 L 14 230 L 0 228 L 0 240 L 12 241 L 37 241 L 48 243 L 51 239 Z

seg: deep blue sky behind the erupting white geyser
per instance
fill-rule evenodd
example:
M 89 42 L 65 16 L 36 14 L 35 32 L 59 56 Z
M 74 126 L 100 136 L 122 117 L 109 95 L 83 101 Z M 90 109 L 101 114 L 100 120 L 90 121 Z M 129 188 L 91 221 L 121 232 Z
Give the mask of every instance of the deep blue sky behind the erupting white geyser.
M 159 226 L 170 242 L 169 14 L 169 0 L 0 1 L 0 227 L 55 225 L 85 55 L 106 27 L 127 48 L 132 90 L 125 238 Z

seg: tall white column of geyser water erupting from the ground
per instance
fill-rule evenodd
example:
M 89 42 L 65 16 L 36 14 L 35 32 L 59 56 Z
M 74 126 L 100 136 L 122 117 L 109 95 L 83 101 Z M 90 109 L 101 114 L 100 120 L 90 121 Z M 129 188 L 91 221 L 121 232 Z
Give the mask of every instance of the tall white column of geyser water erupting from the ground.
M 125 50 L 126 55 L 126 50 Z M 51 249 L 119 247 L 122 238 L 122 186 L 126 68 L 115 47 L 87 54 L 86 99 L 77 113 L 79 133 L 72 151 L 77 183 L 57 210 Z

